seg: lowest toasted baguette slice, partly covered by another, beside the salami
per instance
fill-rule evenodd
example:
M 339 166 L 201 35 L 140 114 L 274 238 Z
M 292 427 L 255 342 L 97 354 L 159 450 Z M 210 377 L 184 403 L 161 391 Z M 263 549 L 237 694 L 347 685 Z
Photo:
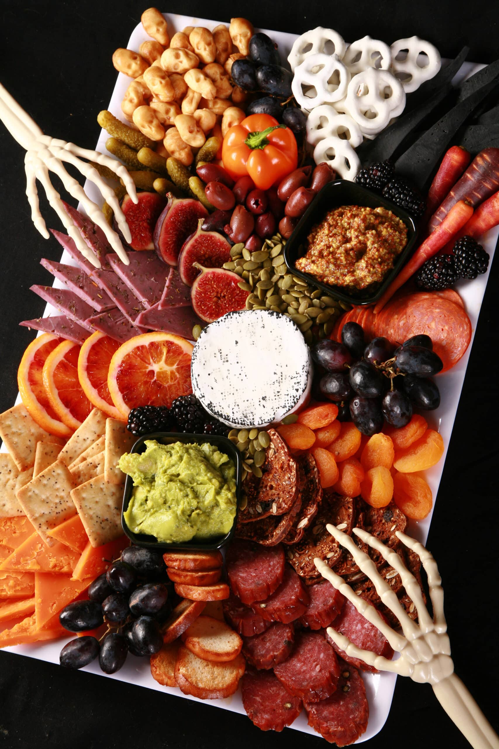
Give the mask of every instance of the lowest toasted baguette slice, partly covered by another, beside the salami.
M 185 646 L 180 646 L 175 664 L 175 681 L 184 694 L 200 700 L 221 700 L 237 691 L 239 679 L 245 673 L 245 659 L 239 653 L 233 661 L 212 663 L 198 658 Z

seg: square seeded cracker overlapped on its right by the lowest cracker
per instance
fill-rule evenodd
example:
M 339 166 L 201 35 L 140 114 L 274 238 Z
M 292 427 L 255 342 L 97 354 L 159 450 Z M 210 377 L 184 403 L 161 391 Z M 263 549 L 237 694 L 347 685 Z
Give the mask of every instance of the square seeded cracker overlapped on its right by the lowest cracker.
M 55 461 L 17 491 L 25 515 L 47 546 L 55 544 L 48 531 L 75 514 L 70 494 L 73 487 L 70 471 L 62 461 Z

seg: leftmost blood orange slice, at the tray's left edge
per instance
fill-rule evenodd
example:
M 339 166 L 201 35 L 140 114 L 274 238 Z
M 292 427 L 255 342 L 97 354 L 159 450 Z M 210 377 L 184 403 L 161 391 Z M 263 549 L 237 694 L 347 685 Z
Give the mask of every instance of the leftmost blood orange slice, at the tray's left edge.
M 70 437 L 72 430 L 61 422 L 43 385 L 43 365 L 60 343 L 61 339 L 52 333 L 43 333 L 31 341 L 17 370 L 17 386 L 28 413 L 41 428 L 57 437 Z

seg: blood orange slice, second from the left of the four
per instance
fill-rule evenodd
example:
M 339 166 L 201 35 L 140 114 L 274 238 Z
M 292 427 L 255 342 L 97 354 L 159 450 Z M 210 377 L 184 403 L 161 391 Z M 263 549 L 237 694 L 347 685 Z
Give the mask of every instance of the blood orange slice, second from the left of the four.
M 78 379 L 80 347 L 64 341 L 52 351 L 43 365 L 43 384 L 55 413 L 70 429 L 77 429 L 92 410 Z

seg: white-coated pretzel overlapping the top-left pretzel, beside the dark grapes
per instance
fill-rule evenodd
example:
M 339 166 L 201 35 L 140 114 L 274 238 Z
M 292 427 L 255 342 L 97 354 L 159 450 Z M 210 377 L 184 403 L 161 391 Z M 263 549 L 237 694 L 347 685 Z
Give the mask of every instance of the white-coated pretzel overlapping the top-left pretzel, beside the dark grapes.
M 296 67 L 291 90 L 300 106 L 313 109 L 343 99 L 350 73 L 338 55 L 318 52 Z

